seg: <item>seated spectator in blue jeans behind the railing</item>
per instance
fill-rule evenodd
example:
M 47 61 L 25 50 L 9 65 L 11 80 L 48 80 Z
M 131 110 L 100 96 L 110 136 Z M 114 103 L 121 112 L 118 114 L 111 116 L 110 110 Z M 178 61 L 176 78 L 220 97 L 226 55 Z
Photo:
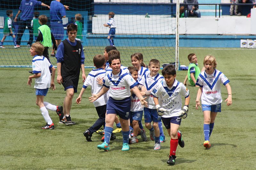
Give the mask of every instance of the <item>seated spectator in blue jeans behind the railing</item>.
M 198 1 L 184 0 L 184 4 L 198 4 Z M 185 5 L 185 18 L 189 16 L 196 16 L 197 18 L 201 18 L 201 13 L 198 9 L 198 5 Z

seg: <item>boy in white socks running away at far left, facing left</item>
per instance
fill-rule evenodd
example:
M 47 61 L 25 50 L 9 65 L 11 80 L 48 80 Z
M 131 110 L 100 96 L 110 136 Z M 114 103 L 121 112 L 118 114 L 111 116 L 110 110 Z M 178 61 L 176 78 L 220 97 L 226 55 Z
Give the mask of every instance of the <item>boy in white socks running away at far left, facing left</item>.
M 54 129 L 54 124 L 52 123 L 47 109 L 56 111 L 59 117 L 63 117 L 63 107 L 44 102 L 44 96 L 46 96 L 49 88 L 55 90 L 55 68 L 52 67 L 52 64 L 42 55 L 44 46 L 40 42 L 32 44 L 29 51 L 31 56 L 33 56 L 32 68 L 34 75 L 28 77 L 27 84 L 31 86 L 32 79 L 36 79 L 34 86 L 34 88 L 36 88 L 36 105 L 39 106 L 44 120 L 46 121 L 46 125 L 42 127 L 42 129 Z M 49 68 L 52 70 L 52 79 Z

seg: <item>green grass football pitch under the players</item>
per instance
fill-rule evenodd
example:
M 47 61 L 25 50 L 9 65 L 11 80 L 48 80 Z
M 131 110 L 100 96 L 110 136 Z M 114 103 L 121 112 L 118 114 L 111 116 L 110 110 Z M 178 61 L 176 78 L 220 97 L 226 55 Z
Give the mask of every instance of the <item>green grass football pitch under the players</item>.
M 28 51 L 28 48 L 24 49 Z M 129 55 L 127 53 L 126 58 L 120 51 L 124 58 L 122 60 L 128 62 L 136 49 Z M 19 54 L 19 51 L 15 52 Z M 94 52 L 103 53 L 103 47 L 91 51 Z M 195 109 L 196 87 L 187 86 L 191 96 L 190 107 L 188 117 L 182 120 L 180 126 L 185 147 L 178 146 L 176 164 L 168 166 L 166 160 L 170 151 L 170 137 L 165 128 L 166 142 L 161 144 L 160 151 L 153 150 L 153 141 L 142 142 L 139 137 L 139 143 L 130 145 L 130 151 L 121 152 L 121 133 L 110 143 L 109 152 L 97 149 L 101 143 L 98 134 L 92 135 L 93 142 L 87 142 L 83 132 L 98 116 L 93 104 L 88 101 L 90 89 L 86 89 L 80 105 L 75 103 L 83 85 L 81 79 L 71 109 L 71 117 L 76 125 L 58 124 L 56 112 L 49 111 L 55 129 L 42 130 L 45 122 L 35 104 L 35 89 L 26 84 L 31 68 L 0 68 L 0 169 L 256 169 L 255 49 L 181 48 L 180 64 L 188 65 L 189 53 L 196 53 L 200 68 L 203 67 L 205 55 L 215 56 L 217 69 L 228 77 L 232 88 L 233 103 L 228 107 L 224 102 L 228 96 L 227 90 L 222 86 L 222 112 L 216 117 L 211 149 L 205 150 L 203 147 L 204 119 L 202 111 Z M 20 60 L 19 57 L 28 57 L 28 65 L 31 65 L 31 56 L 17 55 L 17 60 Z M 0 65 L 4 61 L 1 62 Z M 90 70 L 86 69 L 86 74 Z M 178 71 L 177 80 L 183 82 L 186 74 L 187 71 Z M 34 82 L 33 79 L 32 84 Z M 62 85 L 56 83 L 56 90 L 49 90 L 44 100 L 62 105 L 64 97 Z M 148 130 L 147 136 L 149 138 Z

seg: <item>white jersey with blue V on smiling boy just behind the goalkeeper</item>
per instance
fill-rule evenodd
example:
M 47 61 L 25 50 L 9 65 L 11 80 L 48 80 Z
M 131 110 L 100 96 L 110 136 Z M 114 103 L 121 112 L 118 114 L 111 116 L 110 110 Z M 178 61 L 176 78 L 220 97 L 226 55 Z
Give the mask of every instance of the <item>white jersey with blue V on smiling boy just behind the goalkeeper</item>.
M 141 85 L 143 85 L 144 87 L 146 87 L 147 90 L 152 91 L 156 87 L 157 83 L 161 82 L 163 79 L 164 79 L 164 77 L 162 75 L 160 75 L 159 73 L 157 73 L 154 77 L 150 77 L 150 72 L 149 72 L 147 74 L 144 74 L 144 76 L 142 76 L 139 83 Z M 153 95 L 150 94 L 146 97 L 147 97 L 146 101 L 148 102 L 147 108 L 156 109 Z

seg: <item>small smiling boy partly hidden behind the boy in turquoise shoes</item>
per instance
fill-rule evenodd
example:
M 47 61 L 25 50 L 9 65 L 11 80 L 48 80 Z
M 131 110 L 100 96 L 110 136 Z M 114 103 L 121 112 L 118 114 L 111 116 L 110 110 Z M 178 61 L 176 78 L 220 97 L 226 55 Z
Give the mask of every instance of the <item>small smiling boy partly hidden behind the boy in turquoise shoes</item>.
M 138 82 L 138 69 L 136 67 L 128 67 L 128 70 L 130 72 L 130 74 L 132 75 L 132 78 Z M 139 87 L 139 83 L 137 85 L 137 87 L 139 89 L 141 89 L 141 87 L 143 87 L 142 85 L 140 85 Z M 141 120 L 142 120 L 142 116 L 143 116 L 143 107 L 141 106 L 140 103 L 140 99 L 132 93 L 131 95 L 131 112 L 129 115 L 129 119 L 130 119 L 130 124 L 132 124 L 132 128 L 133 128 L 133 137 L 131 139 L 131 143 L 138 143 L 139 140 L 137 138 L 138 136 L 138 132 L 140 132 L 140 136 L 142 138 L 143 141 L 148 141 L 148 138 L 146 136 L 146 131 L 140 128 L 139 123 L 141 124 Z M 142 125 L 141 125 L 142 126 Z

